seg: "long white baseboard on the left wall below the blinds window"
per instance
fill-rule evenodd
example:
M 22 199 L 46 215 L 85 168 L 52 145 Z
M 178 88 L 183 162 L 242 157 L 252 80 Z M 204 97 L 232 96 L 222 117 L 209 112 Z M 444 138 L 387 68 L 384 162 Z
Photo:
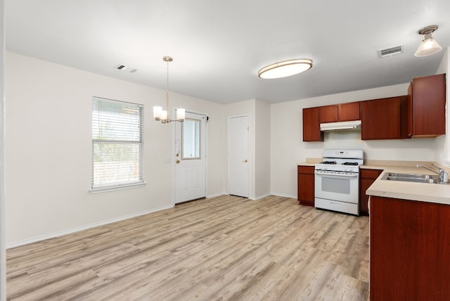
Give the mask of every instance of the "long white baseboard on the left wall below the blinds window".
M 164 207 L 158 207 L 158 208 L 155 208 L 155 209 L 152 209 L 152 210 L 146 210 L 146 211 L 136 212 L 136 213 L 132 213 L 132 214 L 127 214 L 127 215 L 124 215 L 122 217 L 115 217 L 113 219 L 107 219 L 107 220 L 101 221 L 101 222 L 95 222 L 95 223 L 87 224 L 87 225 L 84 225 L 84 226 L 78 226 L 78 227 L 75 227 L 75 228 L 72 228 L 72 229 L 67 229 L 67 230 L 63 230 L 63 231 L 53 232 L 53 233 L 49 233 L 49 234 L 45 234 L 45 235 L 41 235 L 41 236 L 36 236 L 36 237 L 33 237 L 33 238 L 27 238 L 27 239 L 24 239 L 23 241 L 16 241 L 14 243 L 7 243 L 6 244 L 6 249 L 15 248 L 15 247 L 18 247 L 20 245 L 27 245 L 28 243 L 36 243 L 37 241 L 44 241 L 44 240 L 49 239 L 49 238 L 55 238 L 55 237 L 58 237 L 58 236 L 63 236 L 63 235 L 66 235 L 66 234 L 75 233 L 75 232 L 86 230 L 86 229 L 91 229 L 91 228 L 94 228 L 96 226 L 103 226 L 105 224 L 111 224 L 111 223 L 114 223 L 114 222 L 120 222 L 120 221 L 123 221 L 124 219 L 131 219 L 133 217 L 139 217 L 139 216 L 144 215 L 144 214 L 148 214 L 148 213 L 152 213 L 152 212 L 158 212 L 158 211 L 166 210 L 166 209 L 169 209 L 169 208 L 172 208 L 172 207 L 173 207 L 172 205 L 164 206 Z

